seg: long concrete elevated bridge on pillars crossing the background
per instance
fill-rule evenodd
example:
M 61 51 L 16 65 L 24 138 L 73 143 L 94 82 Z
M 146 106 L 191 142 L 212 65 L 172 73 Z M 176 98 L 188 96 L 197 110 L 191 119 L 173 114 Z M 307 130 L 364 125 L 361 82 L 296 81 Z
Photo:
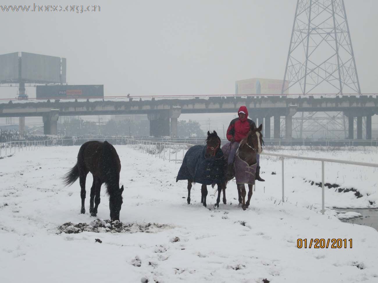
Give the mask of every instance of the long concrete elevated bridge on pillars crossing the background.
M 249 117 L 261 124 L 265 118 L 265 137 L 270 138 L 271 118 L 274 138 L 280 135 L 280 117 L 285 117 L 285 138 L 292 138 L 292 117 L 296 112 L 343 112 L 349 119 L 349 139 L 353 139 L 353 118 L 357 117 L 357 138 L 362 139 L 362 117 L 366 117 L 366 138 L 372 137 L 372 120 L 378 114 L 376 94 L 361 95 L 192 95 L 149 97 L 104 97 L 103 100 L 27 100 L 3 99 L 0 117 L 43 117 L 45 134 L 56 134 L 59 116 L 146 114 L 150 135 L 177 136 L 181 113 L 235 113 L 245 105 Z

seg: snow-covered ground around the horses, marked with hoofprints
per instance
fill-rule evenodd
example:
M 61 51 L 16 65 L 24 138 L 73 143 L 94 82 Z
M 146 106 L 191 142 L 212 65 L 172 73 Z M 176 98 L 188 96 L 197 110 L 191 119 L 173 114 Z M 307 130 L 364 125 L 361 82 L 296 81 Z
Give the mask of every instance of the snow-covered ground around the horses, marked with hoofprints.
M 57 234 L 57 227 L 69 221 L 89 224 L 96 219 L 88 214 L 92 178 L 87 178 L 85 215 L 79 214 L 79 182 L 64 187 L 60 179 L 76 162 L 79 146 L 16 152 L 0 160 L 1 282 L 140 282 L 143 277 L 149 282 L 378 282 L 378 232 L 342 223 L 333 209 L 325 215 L 319 211 L 321 188 L 311 181 L 321 181 L 320 162 L 285 161 L 282 203 L 281 161 L 262 157 L 266 182 L 258 183 L 251 206 L 243 211 L 237 205 L 236 186 L 229 183 L 227 205 L 213 209 L 210 186 L 208 208 L 201 205 L 200 184 L 192 188 L 192 204 L 187 205 L 186 182 L 175 183 L 180 164 L 127 146 L 115 148 L 125 187 L 121 221 L 161 228 Z M 376 149 L 279 152 L 378 159 Z M 325 168 L 326 183 L 363 195 L 326 188 L 326 206 L 377 207 L 376 170 L 330 163 Z M 104 188 L 97 217 L 109 218 Z M 311 238 L 352 239 L 352 248 L 349 241 L 341 249 L 297 248 L 298 238 L 306 238 L 307 244 Z

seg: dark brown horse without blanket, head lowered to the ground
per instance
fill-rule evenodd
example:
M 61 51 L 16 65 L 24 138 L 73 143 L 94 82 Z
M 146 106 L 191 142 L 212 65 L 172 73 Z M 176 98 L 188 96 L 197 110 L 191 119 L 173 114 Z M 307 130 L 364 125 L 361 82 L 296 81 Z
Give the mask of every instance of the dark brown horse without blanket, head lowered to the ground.
M 119 220 L 119 211 L 122 206 L 123 186 L 119 188 L 119 172 L 121 161 L 116 149 L 107 141 L 87 141 L 77 154 L 76 165 L 64 176 L 66 185 L 72 185 L 79 178 L 81 187 L 81 213 L 85 213 L 85 179 L 88 172 L 93 175 L 91 187 L 89 212 L 91 216 L 97 215 L 100 204 L 100 190 L 102 183 L 106 184 L 106 192 L 109 195 L 110 219 Z M 95 206 L 93 207 L 93 201 Z

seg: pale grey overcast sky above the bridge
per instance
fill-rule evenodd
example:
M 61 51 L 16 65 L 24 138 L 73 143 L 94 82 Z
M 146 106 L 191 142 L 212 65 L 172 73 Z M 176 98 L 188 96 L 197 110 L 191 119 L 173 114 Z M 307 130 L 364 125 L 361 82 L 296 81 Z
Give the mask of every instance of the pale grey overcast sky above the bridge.
M 296 0 L 58 2 L 101 11 L 0 11 L 0 54 L 65 57 L 69 84 L 104 84 L 105 95 L 233 94 L 235 80 L 283 79 L 296 8 Z M 345 7 L 361 91 L 377 92 L 378 1 Z

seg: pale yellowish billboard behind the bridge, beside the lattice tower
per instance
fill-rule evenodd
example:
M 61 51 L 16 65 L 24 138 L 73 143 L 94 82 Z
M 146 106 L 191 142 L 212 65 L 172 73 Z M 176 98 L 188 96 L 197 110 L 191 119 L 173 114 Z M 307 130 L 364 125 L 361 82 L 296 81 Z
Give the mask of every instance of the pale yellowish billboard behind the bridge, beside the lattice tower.
M 281 94 L 283 80 L 248 78 L 235 82 L 235 94 Z M 287 88 L 289 82 L 285 82 Z M 289 94 L 288 89 L 284 94 Z

